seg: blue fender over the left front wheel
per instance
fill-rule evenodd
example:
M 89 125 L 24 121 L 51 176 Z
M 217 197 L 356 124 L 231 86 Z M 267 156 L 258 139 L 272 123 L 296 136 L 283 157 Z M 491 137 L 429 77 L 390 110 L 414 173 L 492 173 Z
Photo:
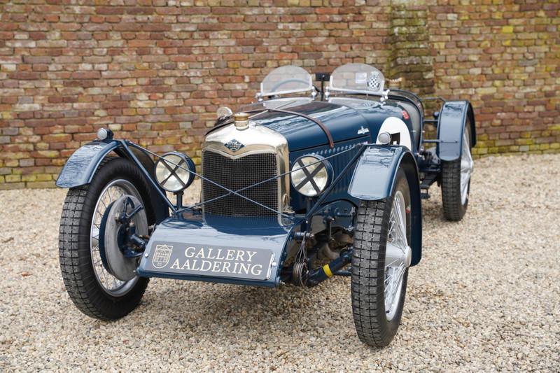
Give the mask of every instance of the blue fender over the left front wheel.
M 118 141 L 92 141 L 71 155 L 57 178 L 60 188 L 75 188 L 89 184 L 106 155 L 118 147 Z

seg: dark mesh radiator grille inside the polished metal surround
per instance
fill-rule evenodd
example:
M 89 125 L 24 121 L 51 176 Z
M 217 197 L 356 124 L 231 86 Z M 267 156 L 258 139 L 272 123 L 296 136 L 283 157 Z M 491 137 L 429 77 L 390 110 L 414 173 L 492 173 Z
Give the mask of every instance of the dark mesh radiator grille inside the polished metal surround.
M 204 150 L 202 153 L 202 174 L 214 183 L 230 190 L 239 190 L 260 183 L 279 174 L 275 153 L 253 153 L 242 157 L 228 157 L 221 153 Z M 223 188 L 209 181 L 202 181 L 202 200 L 210 201 L 227 195 Z M 279 179 L 274 178 L 239 194 L 260 204 L 279 211 Z M 203 205 L 204 213 L 222 216 L 276 216 L 274 211 L 265 209 L 237 195 L 228 195 Z

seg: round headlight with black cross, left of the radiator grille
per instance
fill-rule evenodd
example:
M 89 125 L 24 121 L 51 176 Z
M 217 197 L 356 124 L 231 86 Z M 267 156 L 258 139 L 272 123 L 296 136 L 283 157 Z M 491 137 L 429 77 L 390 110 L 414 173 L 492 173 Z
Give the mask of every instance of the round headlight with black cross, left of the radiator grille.
M 155 163 L 155 179 L 160 187 L 176 193 L 193 183 L 195 170 L 195 162 L 187 155 L 176 152 L 165 153 Z

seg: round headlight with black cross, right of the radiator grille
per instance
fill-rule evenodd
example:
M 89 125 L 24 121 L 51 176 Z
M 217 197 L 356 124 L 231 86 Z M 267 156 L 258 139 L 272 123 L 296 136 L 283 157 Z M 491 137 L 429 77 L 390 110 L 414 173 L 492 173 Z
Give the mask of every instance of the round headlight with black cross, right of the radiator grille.
M 321 155 L 297 158 L 290 174 L 293 188 L 307 197 L 320 195 L 330 183 L 332 167 Z

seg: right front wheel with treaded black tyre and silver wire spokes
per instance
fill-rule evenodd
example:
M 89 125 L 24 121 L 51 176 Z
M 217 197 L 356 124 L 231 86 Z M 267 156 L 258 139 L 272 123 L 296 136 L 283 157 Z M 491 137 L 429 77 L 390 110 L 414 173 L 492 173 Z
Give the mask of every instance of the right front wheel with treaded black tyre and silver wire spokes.
M 409 247 L 410 191 L 404 171 L 397 173 L 391 197 L 362 201 L 352 254 L 352 311 L 358 337 L 370 346 L 387 346 L 398 330 L 405 303 Z

